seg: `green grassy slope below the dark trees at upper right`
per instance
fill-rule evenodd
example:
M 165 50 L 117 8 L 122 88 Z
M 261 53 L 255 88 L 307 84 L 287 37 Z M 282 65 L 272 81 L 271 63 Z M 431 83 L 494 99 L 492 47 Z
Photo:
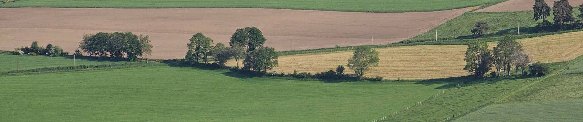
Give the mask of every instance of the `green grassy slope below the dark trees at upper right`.
M 577 9 L 573 10 L 573 15 L 577 18 L 580 14 Z M 553 16 L 547 18 L 552 21 Z M 577 18 L 578 19 L 578 18 Z M 437 29 L 438 38 L 441 39 L 468 39 L 472 38 L 470 32 L 477 21 L 485 21 L 490 25 L 490 31 L 484 32 L 483 37 L 502 36 L 502 35 L 518 35 L 518 25 L 520 25 L 520 34 L 535 34 L 535 27 L 538 21 L 532 19 L 532 11 L 522 12 L 468 12 L 464 13 L 455 19 L 449 20 L 444 24 L 439 25 L 423 34 L 417 35 L 410 40 L 435 39 L 435 32 Z M 539 20 L 542 21 L 542 20 Z

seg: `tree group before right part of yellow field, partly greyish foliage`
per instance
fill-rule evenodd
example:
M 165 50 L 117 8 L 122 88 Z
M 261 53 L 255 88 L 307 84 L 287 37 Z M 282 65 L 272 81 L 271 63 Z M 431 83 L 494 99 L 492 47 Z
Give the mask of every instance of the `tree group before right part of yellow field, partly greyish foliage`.
M 502 76 L 500 71 L 504 70 L 506 74 L 503 75 L 511 76 L 512 68 L 516 69 L 517 75 L 519 71 L 526 75 L 528 74 L 526 68 L 531 63 L 531 58 L 522 50 L 522 44 L 508 37 L 499 41 L 493 50 L 490 50 L 485 42 L 470 43 L 464 60 L 466 65 L 463 69 L 477 78 L 483 78 L 492 66 L 496 68 L 496 73 L 491 73 L 491 75 Z M 544 73 L 538 73 L 538 75 L 544 75 Z

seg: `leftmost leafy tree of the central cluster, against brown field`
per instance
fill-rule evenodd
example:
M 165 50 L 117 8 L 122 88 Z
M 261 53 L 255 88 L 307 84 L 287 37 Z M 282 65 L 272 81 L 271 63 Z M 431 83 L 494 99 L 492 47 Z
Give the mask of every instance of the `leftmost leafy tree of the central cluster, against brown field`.
M 199 60 L 208 62 L 208 57 L 212 56 L 210 51 L 212 49 L 212 44 L 214 42 L 213 39 L 210 39 L 203 35 L 201 32 L 192 35 L 192 38 L 189 40 L 188 43 L 188 50 L 192 52 L 192 59 L 194 61 L 199 62 Z M 187 53 L 188 55 L 189 53 Z M 192 62 L 192 60 L 188 60 L 188 56 L 186 57 L 187 61 Z

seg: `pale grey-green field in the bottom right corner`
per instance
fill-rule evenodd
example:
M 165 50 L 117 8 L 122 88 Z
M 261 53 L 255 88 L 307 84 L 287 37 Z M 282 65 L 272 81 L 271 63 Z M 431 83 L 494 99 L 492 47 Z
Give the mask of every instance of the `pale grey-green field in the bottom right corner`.
M 583 121 L 583 99 L 528 101 L 492 105 L 470 113 L 459 122 Z

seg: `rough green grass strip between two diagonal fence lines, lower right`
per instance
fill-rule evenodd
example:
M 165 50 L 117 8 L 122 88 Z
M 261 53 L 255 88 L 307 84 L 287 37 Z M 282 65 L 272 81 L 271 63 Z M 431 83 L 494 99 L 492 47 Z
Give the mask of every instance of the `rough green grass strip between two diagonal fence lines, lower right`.
M 469 82 L 440 97 L 383 121 L 442 121 L 453 114 L 465 112 L 490 101 L 497 95 L 511 90 L 528 80 L 532 80 L 532 78 L 513 77 Z

